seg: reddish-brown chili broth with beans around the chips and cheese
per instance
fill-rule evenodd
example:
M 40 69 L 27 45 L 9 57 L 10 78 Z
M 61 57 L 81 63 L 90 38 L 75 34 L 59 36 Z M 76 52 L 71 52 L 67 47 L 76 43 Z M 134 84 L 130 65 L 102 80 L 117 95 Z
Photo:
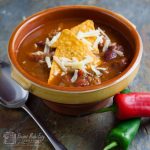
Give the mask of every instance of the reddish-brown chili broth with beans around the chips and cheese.
M 28 72 L 34 78 L 47 83 L 49 78 L 50 69 L 47 67 L 46 63 L 38 63 L 37 60 L 40 58 L 30 57 L 31 53 L 36 51 L 43 51 L 45 39 L 51 37 L 56 33 L 57 30 L 70 29 L 77 24 L 80 24 L 84 20 L 81 19 L 67 19 L 58 20 L 54 22 L 47 22 L 47 24 L 42 25 L 31 32 L 20 44 L 18 48 L 17 59 L 22 68 Z M 100 27 L 108 37 L 111 39 L 112 44 L 108 47 L 108 50 L 104 53 L 99 51 L 100 59 L 102 60 L 101 68 L 107 68 L 107 70 L 101 70 L 103 73 L 101 77 L 95 78 L 94 76 L 82 76 L 82 71 L 78 72 L 78 79 L 75 83 L 70 82 L 72 73 L 67 73 L 62 76 L 59 83 L 56 85 L 62 86 L 88 86 L 88 85 L 98 85 L 104 81 L 112 79 L 113 77 L 119 75 L 130 63 L 131 54 L 130 45 L 128 41 L 116 32 L 116 30 L 102 25 L 98 22 L 95 23 L 95 28 Z M 117 43 L 117 44 L 116 44 Z M 101 45 L 99 45 L 101 47 Z M 123 56 L 120 56 L 114 52 L 115 50 L 123 52 Z M 92 80 L 92 81 L 91 81 Z M 62 84 L 63 83 L 63 84 Z

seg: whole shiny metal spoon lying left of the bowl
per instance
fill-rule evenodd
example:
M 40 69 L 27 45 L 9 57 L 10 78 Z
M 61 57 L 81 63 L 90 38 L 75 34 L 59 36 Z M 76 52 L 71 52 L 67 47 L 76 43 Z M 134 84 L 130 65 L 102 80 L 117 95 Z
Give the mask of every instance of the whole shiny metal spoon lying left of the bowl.
M 5 62 L 0 62 L 0 104 L 8 108 L 24 109 L 41 128 L 55 150 L 67 150 L 52 133 L 41 125 L 38 119 L 26 106 L 25 103 L 28 99 L 28 95 L 28 91 L 24 90 L 19 84 L 11 79 L 9 65 Z

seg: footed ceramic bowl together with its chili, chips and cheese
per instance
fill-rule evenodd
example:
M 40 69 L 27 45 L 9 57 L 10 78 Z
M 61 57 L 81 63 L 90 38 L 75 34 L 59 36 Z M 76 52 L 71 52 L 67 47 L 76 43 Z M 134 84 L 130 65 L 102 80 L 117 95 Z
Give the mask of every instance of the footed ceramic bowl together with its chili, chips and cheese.
M 95 6 L 61 6 L 28 17 L 11 35 L 12 78 L 53 110 L 83 114 L 136 76 L 142 41 L 129 20 Z

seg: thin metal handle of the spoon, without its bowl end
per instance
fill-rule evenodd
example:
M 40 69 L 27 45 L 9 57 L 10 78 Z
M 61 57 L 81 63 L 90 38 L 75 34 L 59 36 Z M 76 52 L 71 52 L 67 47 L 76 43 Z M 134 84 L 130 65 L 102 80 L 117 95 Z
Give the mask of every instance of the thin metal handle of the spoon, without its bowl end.
M 41 125 L 41 123 L 38 121 L 38 119 L 34 116 L 34 114 L 30 111 L 30 109 L 24 105 L 22 108 L 30 115 L 30 117 L 37 123 L 37 125 L 40 127 L 40 129 L 43 131 L 45 136 L 48 138 L 50 143 L 53 145 L 55 150 L 67 150 L 63 144 L 61 144 L 52 133 L 50 133 L 46 128 Z

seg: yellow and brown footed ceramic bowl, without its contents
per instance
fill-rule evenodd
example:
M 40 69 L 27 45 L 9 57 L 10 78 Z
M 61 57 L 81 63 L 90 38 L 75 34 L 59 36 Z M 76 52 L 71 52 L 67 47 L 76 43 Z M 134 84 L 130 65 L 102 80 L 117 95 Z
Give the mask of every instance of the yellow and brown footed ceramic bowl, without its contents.
M 120 32 L 132 47 L 133 58 L 129 66 L 118 76 L 98 86 L 60 87 L 48 86 L 46 83 L 30 76 L 22 69 L 16 58 L 16 50 L 25 36 L 47 21 L 59 18 L 83 18 L 100 20 L 103 24 Z M 106 99 L 126 88 L 136 76 L 142 57 L 142 41 L 133 25 L 118 13 L 95 6 L 61 6 L 50 8 L 28 17 L 11 35 L 8 55 L 12 65 L 12 78 L 24 89 L 40 97 L 53 110 L 70 115 L 83 114 L 107 104 Z

